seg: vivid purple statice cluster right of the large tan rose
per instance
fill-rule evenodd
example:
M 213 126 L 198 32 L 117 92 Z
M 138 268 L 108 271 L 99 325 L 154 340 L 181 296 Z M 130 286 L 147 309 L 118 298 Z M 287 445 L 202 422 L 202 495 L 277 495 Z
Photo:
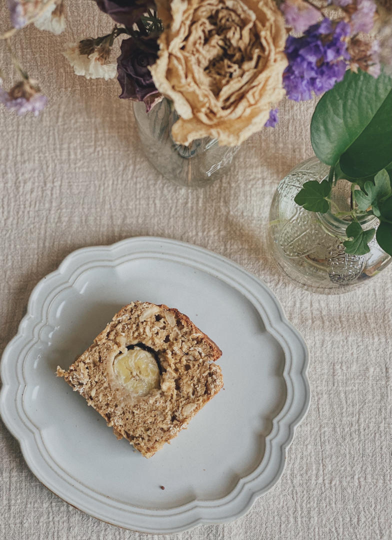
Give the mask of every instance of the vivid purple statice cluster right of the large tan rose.
M 283 87 L 294 101 L 312 99 L 332 89 L 343 79 L 349 59 L 343 39 L 350 33 L 348 23 L 325 18 L 310 26 L 302 37 L 288 36 L 285 53 L 288 66 L 283 71 Z

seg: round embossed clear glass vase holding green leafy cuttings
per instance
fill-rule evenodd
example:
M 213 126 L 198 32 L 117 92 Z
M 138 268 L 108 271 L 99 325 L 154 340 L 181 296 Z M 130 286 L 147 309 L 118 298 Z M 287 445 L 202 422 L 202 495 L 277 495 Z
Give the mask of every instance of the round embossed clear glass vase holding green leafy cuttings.
M 269 247 L 276 264 L 296 284 L 312 292 L 336 294 L 379 274 L 392 260 L 377 244 L 375 236 L 370 252 L 350 255 L 344 251 L 350 215 L 336 217 L 332 212 L 308 212 L 294 202 L 295 195 L 308 180 L 328 178 L 329 167 L 311 158 L 296 166 L 281 180 L 269 213 Z M 351 186 L 339 180 L 331 199 L 343 212 L 350 212 Z M 374 215 L 364 212 L 358 218 L 363 230 L 379 226 Z

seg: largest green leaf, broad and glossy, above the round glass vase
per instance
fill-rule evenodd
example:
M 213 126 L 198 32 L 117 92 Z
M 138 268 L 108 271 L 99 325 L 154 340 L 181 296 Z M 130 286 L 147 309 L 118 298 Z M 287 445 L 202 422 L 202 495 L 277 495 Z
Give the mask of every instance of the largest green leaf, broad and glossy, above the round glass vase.
M 310 137 L 316 156 L 327 165 L 339 161 L 349 177 L 363 178 L 392 158 L 392 79 L 347 71 L 323 95 L 313 114 Z

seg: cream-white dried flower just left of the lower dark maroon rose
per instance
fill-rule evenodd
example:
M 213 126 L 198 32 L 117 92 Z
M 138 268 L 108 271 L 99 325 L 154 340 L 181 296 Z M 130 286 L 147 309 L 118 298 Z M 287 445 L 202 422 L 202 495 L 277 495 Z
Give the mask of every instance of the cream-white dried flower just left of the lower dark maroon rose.
M 76 75 L 83 75 L 86 79 L 103 78 L 113 79 L 117 75 L 117 64 L 108 62 L 107 55 L 102 51 L 93 49 L 89 55 L 83 55 L 79 50 L 79 43 L 67 44 L 63 52 L 71 64 Z

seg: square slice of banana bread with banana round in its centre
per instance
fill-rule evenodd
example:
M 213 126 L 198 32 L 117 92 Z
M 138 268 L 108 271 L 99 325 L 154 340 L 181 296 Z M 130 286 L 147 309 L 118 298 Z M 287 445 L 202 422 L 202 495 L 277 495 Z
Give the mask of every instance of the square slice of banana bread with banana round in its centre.
M 186 315 L 165 305 L 121 309 L 69 368 L 57 368 L 145 457 L 187 427 L 223 386 L 221 350 Z

